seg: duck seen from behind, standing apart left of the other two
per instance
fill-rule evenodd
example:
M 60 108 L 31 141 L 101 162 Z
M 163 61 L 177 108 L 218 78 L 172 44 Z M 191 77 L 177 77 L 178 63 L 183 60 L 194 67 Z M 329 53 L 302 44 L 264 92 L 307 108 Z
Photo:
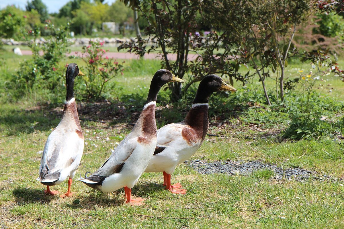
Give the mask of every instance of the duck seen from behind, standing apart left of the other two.
M 45 194 L 56 195 L 58 191 L 51 191 L 50 186 L 61 184 L 68 178 L 68 190 L 61 195 L 62 198 L 73 195 L 71 186 L 84 151 L 84 135 L 74 97 L 76 76 L 85 74 L 75 63 L 71 63 L 66 70 L 67 93 L 62 118 L 45 142 L 39 177 L 36 179 L 46 185 Z

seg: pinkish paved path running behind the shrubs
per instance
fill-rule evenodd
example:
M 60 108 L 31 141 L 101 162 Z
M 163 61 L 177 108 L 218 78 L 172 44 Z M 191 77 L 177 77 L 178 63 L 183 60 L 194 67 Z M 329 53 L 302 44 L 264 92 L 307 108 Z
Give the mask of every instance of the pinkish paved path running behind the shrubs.
M 23 55 L 32 55 L 32 51 L 31 50 L 21 50 Z M 43 53 L 41 52 L 41 55 L 43 55 Z M 71 53 L 67 53 L 66 56 L 78 56 L 81 57 L 82 56 L 82 52 L 80 51 L 76 51 L 76 52 L 71 52 Z M 115 53 L 115 52 L 107 52 L 104 54 L 104 57 L 109 57 L 109 58 L 114 58 L 114 59 L 139 59 L 139 56 L 133 53 Z M 170 60 L 176 60 L 177 59 L 177 55 L 176 54 L 168 54 L 167 55 L 168 58 Z M 195 60 L 197 57 L 197 54 L 190 54 L 188 60 Z M 145 59 L 157 59 L 159 60 L 160 57 L 158 56 L 157 53 L 146 53 L 144 55 Z

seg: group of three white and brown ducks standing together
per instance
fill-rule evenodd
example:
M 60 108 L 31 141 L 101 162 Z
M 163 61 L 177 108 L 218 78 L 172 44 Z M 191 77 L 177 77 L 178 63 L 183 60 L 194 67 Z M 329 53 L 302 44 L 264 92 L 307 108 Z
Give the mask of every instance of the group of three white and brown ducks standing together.
M 61 197 L 71 196 L 71 185 L 79 166 L 84 135 L 80 126 L 74 98 L 74 80 L 84 76 L 74 63 L 66 70 L 67 95 L 60 123 L 48 136 L 41 159 L 39 178 L 46 185 L 45 194 L 55 195 L 50 186 L 68 178 L 68 191 Z M 158 70 L 151 81 L 147 101 L 132 131 L 112 151 L 100 168 L 79 181 L 102 192 L 124 188 L 126 203 L 140 205 L 142 198 L 131 198 L 131 188 L 144 172 L 162 172 L 164 186 L 172 193 L 186 194 L 180 183 L 171 185 L 175 168 L 189 159 L 202 145 L 208 131 L 208 101 L 213 92 L 236 91 L 217 75 L 208 75 L 200 82 L 192 107 L 184 120 L 157 130 L 155 105 L 161 87 L 169 82 L 184 81 L 169 70 Z

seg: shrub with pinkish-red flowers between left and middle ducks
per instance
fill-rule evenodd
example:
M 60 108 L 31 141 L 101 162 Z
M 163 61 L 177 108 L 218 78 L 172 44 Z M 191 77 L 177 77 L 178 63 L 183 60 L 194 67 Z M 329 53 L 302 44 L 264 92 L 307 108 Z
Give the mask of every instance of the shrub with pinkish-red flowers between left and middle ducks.
M 87 100 L 98 100 L 104 98 L 104 94 L 115 87 L 111 81 L 119 73 L 123 74 L 123 65 L 116 60 L 108 58 L 103 49 L 104 43 L 90 42 L 83 47 L 82 59 L 86 63 L 86 72 L 83 76 L 86 87 L 84 98 Z

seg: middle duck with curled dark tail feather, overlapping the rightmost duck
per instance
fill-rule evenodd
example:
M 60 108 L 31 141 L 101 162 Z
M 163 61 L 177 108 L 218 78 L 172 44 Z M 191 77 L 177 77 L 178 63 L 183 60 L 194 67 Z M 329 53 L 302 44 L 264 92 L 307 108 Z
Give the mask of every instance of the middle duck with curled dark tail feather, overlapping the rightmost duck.
M 131 189 L 146 169 L 157 145 L 155 105 L 161 87 L 169 82 L 184 82 L 169 70 L 158 70 L 151 81 L 147 101 L 131 132 L 112 150 L 111 156 L 94 173 L 82 178 L 87 186 L 102 192 L 124 188 L 126 203 L 143 204 L 142 198 L 131 198 Z

